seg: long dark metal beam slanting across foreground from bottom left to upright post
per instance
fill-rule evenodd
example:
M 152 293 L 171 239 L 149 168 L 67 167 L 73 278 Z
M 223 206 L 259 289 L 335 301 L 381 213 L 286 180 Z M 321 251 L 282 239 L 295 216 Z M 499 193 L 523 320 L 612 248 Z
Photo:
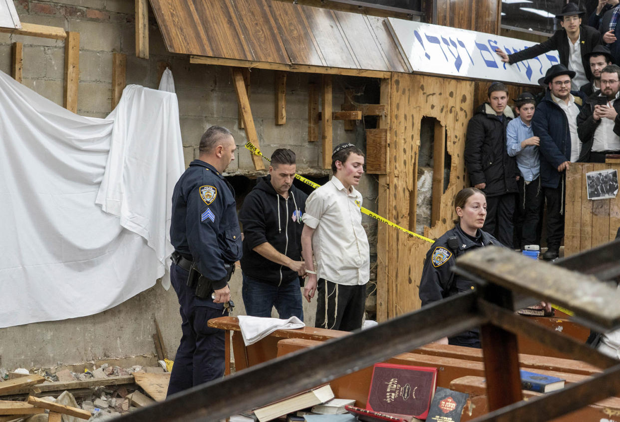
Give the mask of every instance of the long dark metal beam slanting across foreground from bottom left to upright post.
M 467 292 L 368 330 L 193 387 L 117 420 L 218 421 L 486 322 L 476 310 L 476 292 Z

